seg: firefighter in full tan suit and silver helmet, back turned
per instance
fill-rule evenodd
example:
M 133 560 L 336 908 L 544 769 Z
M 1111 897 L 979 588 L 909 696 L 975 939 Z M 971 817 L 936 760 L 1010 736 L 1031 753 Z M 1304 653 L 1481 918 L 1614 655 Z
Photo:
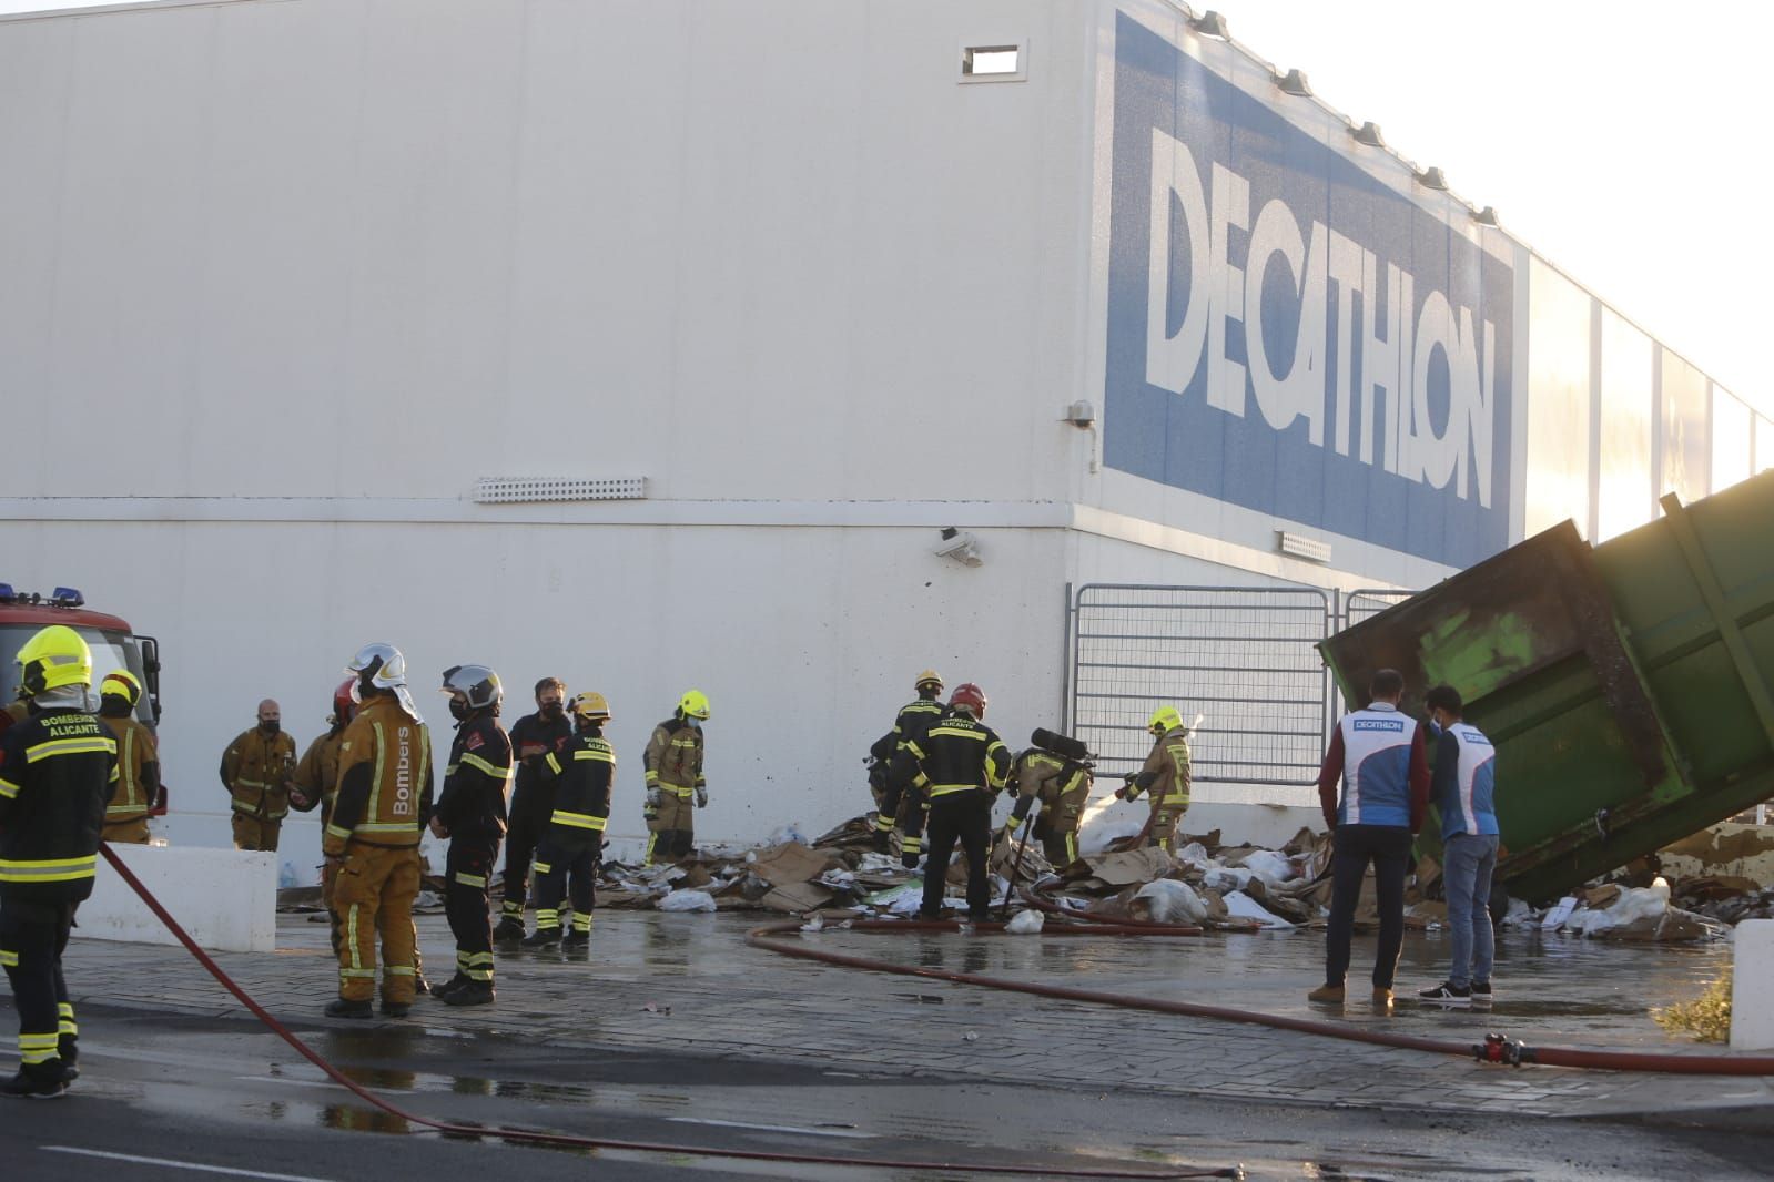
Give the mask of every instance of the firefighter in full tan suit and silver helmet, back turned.
M 339 744 L 339 797 L 321 838 L 344 923 L 339 999 L 326 1015 L 371 1015 L 380 929 L 381 1012 L 404 1017 L 417 987 L 413 898 L 419 838 L 431 813 L 431 734 L 406 689 L 399 649 L 365 645 L 346 672 L 357 675 L 358 711 Z

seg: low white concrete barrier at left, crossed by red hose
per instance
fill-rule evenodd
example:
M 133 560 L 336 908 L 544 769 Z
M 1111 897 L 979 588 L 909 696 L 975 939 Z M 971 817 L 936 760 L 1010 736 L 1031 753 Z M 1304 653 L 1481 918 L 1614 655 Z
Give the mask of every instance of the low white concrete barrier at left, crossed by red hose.
M 112 845 L 172 918 L 215 952 L 273 952 L 277 946 L 277 854 L 200 845 Z M 176 945 L 172 932 L 130 884 L 99 858 L 92 898 L 80 904 L 75 934 Z

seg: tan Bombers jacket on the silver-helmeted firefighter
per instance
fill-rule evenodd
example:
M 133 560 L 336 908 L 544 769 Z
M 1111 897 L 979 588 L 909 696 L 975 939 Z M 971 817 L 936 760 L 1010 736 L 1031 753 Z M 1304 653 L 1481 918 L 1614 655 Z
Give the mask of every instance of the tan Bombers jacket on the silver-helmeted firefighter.
M 431 732 L 392 693 L 371 695 L 339 744 L 339 799 L 321 849 L 419 845 L 431 817 Z

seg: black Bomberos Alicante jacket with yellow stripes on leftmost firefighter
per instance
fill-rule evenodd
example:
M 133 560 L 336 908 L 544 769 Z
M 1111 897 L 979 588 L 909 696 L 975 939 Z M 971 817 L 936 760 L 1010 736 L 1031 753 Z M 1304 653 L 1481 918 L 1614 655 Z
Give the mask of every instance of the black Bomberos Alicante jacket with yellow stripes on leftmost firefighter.
M 117 741 L 82 711 L 0 734 L 0 898 L 71 904 L 92 893 Z

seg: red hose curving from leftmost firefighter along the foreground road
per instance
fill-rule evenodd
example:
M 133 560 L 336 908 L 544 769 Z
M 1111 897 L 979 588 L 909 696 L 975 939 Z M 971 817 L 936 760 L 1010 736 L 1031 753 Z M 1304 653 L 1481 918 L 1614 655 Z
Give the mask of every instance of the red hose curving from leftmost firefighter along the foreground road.
M 119 877 L 122 877 L 122 881 L 130 884 L 130 890 L 133 890 L 142 898 L 142 902 L 147 904 L 147 909 L 153 911 L 154 916 L 161 923 L 167 925 L 167 930 L 172 932 L 181 945 L 184 945 L 184 950 L 190 952 L 197 959 L 197 962 L 202 964 L 204 969 L 211 976 L 215 976 L 216 982 L 222 984 L 224 989 L 227 989 L 231 994 L 234 994 L 234 998 L 243 1007 L 247 1007 L 247 1010 L 250 1010 L 254 1017 L 257 1017 L 261 1023 L 264 1023 L 264 1026 L 270 1028 L 271 1033 L 275 1033 L 279 1038 L 282 1038 L 291 1047 L 294 1047 L 296 1053 L 302 1058 L 305 1058 L 307 1061 L 314 1063 L 314 1067 L 318 1067 L 328 1079 L 332 1079 L 334 1083 L 337 1083 L 341 1088 L 346 1088 L 348 1092 L 351 1092 L 353 1095 L 357 1095 L 365 1104 L 373 1104 L 374 1108 L 380 1108 L 381 1111 L 389 1113 L 390 1116 L 397 1116 L 399 1120 L 404 1120 L 408 1124 L 419 1125 L 422 1129 L 435 1129 L 435 1131 L 449 1134 L 449 1136 L 497 1138 L 500 1141 L 518 1141 L 518 1143 L 527 1143 L 527 1145 L 553 1145 L 553 1147 L 569 1147 L 569 1148 L 605 1148 L 605 1150 L 624 1150 L 624 1152 L 635 1152 L 635 1154 L 678 1154 L 678 1155 L 690 1155 L 690 1157 L 722 1157 L 722 1159 L 736 1159 L 736 1161 L 775 1161 L 775 1163 L 791 1163 L 791 1164 L 804 1164 L 804 1166 L 860 1166 L 860 1168 L 875 1168 L 875 1170 L 914 1170 L 914 1171 L 928 1171 L 928 1173 L 1043 1175 L 1043 1177 L 1056 1177 L 1056 1178 L 1151 1178 L 1155 1182 L 1157 1180 L 1169 1180 L 1169 1178 L 1242 1178 L 1244 1177 L 1244 1170 L 1240 1166 L 1185 1168 L 1185 1170 L 1167 1170 L 1167 1171 L 1128 1170 L 1128 1168 L 1100 1168 L 1100 1170 L 1070 1168 L 1070 1170 L 1066 1170 L 1066 1168 L 1056 1168 L 1056 1166 L 1048 1166 L 1048 1164 L 1025 1164 L 1025 1166 L 1022 1166 L 1022 1164 L 967 1164 L 967 1163 L 953 1163 L 953 1161 L 915 1161 L 915 1159 L 880 1159 L 880 1157 L 832 1157 L 832 1155 L 820 1155 L 820 1154 L 773 1154 L 773 1152 L 765 1152 L 765 1150 L 715 1148 L 715 1147 L 708 1147 L 708 1145 L 672 1145 L 672 1143 L 662 1143 L 662 1141 L 623 1141 L 623 1139 L 612 1139 L 612 1138 L 585 1138 L 585 1136 L 569 1136 L 569 1134 L 564 1134 L 564 1132 L 538 1132 L 538 1131 L 532 1131 L 532 1129 L 507 1129 L 507 1127 L 500 1127 L 500 1125 L 458 1125 L 458 1124 L 451 1124 L 451 1122 L 445 1122 L 445 1120 L 433 1120 L 429 1116 L 419 1116 L 419 1115 L 408 1113 L 406 1109 L 397 1108 L 396 1104 L 390 1104 L 389 1100 L 381 1099 L 380 1095 L 376 1095 L 374 1092 L 371 1092 L 369 1088 L 362 1086 L 360 1083 L 357 1083 L 355 1079 L 351 1079 L 349 1076 L 346 1076 L 342 1070 L 339 1070 L 337 1067 L 334 1067 L 318 1051 L 314 1051 L 312 1047 L 309 1047 L 309 1044 L 305 1044 L 287 1026 L 284 1026 L 280 1021 L 277 1021 L 264 1007 L 261 1007 L 257 1001 L 254 1001 L 252 996 L 245 989 L 241 989 L 234 982 L 234 978 L 231 978 L 222 969 L 222 966 L 218 966 L 209 957 L 208 952 L 204 952 L 202 948 L 197 946 L 197 941 L 193 941 L 190 937 L 190 934 L 183 927 L 179 927 L 179 921 L 174 920 L 172 914 L 160 904 L 160 900 L 154 898 L 154 895 L 142 884 L 142 881 L 138 877 L 135 877 L 135 872 L 131 872 L 130 867 L 124 865 L 122 858 L 119 858 L 112 851 L 112 847 L 108 844 L 99 844 L 99 852 L 105 854 L 105 861 L 108 861 L 112 865 L 112 868 L 119 874 Z

